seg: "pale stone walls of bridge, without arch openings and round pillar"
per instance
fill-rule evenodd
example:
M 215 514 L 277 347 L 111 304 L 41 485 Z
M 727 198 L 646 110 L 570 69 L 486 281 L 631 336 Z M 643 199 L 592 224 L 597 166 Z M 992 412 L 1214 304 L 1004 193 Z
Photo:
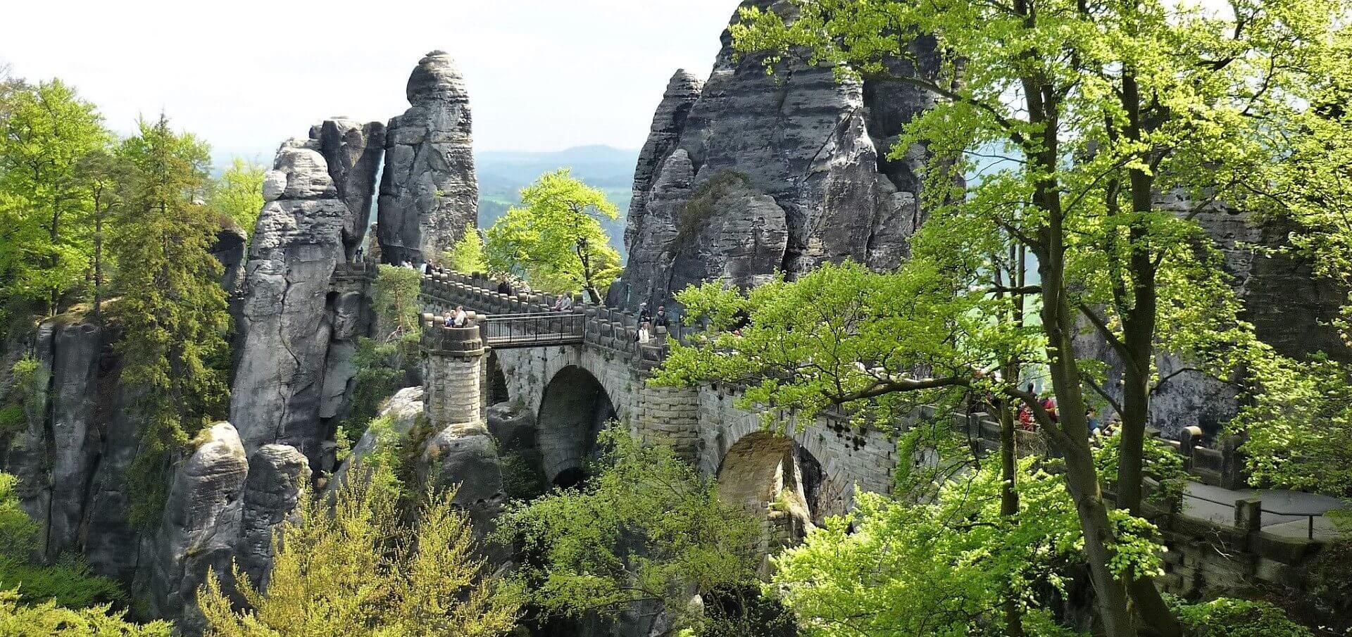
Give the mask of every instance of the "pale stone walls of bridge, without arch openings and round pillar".
M 552 302 L 531 292 L 500 295 L 491 289 L 492 281 L 453 273 L 425 277 L 423 285 L 423 303 L 434 312 L 457 304 L 473 310 L 476 316 L 491 316 L 495 311 L 539 312 L 546 311 Z M 485 306 L 488 314 L 484 314 Z M 846 511 L 853 503 L 856 486 L 876 492 L 891 490 L 896 444 L 890 435 L 876 430 L 856 431 L 831 417 L 821 417 L 811 426 L 779 417 L 767 421 L 764 414 L 735 407 L 738 391 L 734 387 L 649 387 L 649 371 L 654 361 L 634 348 L 627 335 L 592 334 L 603 323 L 611 331 L 625 331 L 635 319 L 588 306 L 579 306 L 575 311 L 587 315 L 589 331 L 584 344 L 495 352 L 507 381 L 508 400 L 529 411 L 539 427 L 542 444 L 552 435 L 546 430 L 548 423 L 539 419 L 550 384 L 565 371 L 581 369 L 604 390 L 615 417 L 627 422 L 635 435 L 669 445 L 707 477 L 719 475 L 723 458 L 738 441 L 768 427 L 794 440 L 806 457 L 819 465 L 819 496 L 814 498 L 819 502 L 814 511 L 818 519 L 823 514 Z M 487 375 L 487 357 L 480 365 L 484 367 L 480 375 Z

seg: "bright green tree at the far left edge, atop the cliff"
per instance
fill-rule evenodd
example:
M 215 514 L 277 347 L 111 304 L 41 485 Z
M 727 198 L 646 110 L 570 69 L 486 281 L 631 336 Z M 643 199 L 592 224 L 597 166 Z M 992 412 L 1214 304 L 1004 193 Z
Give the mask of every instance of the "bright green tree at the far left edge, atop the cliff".
M 0 137 L 0 293 L 47 315 L 84 280 L 91 189 L 80 161 L 110 135 L 95 105 L 51 80 L 14 91 Z

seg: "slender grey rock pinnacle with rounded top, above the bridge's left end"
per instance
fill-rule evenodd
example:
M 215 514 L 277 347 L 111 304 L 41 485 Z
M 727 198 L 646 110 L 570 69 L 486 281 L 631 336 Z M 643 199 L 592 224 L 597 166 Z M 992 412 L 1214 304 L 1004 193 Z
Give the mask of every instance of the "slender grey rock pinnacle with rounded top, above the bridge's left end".
M 479 215 L 469 95 L 450 55 L 422 58 L 407 96 L 408 111 L 389 120 L 380 181 L 376 234 L 389 264 L 439 260 Z

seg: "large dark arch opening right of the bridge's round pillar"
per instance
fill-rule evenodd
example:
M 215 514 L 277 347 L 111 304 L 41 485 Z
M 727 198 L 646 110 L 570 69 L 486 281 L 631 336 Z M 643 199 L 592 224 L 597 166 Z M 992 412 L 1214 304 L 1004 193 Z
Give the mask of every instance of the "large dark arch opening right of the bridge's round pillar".
M 564 488 L 581 484 L 584 464 L 596 450 L 596 437 L 615 418 L 606 388 L 591 372 L 565 367 L 545 387 L 537 414 L 545 479 Z

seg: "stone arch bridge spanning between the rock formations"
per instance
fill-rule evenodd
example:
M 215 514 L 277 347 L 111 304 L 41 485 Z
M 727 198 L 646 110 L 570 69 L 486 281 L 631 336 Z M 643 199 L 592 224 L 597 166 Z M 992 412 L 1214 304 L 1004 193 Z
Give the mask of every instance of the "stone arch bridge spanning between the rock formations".
M 771 418 L 767 427 L 765 414 L 733 406 L 735 388 L 649 387 L 664 335 L 639 345 L 635 316 L 587 303 L 556 312 L 556 299 L 503 295 L 492 280 L 445 270 L 422 281 L 430 399 L 446 410 L 476 404 L 487 414 L 510 402 L 527 411 L 549 481 L 573 483 L 603 425 L 617 419 L 715 477 L 727 499 L 771 517 L 787 509 L 819 522 L 848 510 L 856 488 L 891 490 L 896 445 L 887 434 L 826 417 L 811 426 Z M 470 327 L 443 326 L 457 306 L 472 312 Z

